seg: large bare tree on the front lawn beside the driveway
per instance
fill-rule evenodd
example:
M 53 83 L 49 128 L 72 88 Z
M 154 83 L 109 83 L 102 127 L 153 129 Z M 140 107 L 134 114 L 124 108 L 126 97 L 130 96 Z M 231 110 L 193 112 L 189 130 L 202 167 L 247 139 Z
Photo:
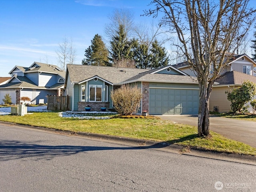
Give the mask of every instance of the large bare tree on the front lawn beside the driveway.
M 153 0 L 155 8 L 146 11 L 154 17 L 161 14 L 162 24 L 177 33 L 186 60 L 196 72 L 200 90 L 198 136 L 210 135 L 208 102 L 212 86 L 255 20 L 256 10 L 249 8 L 248 2 Z M 232 52 L 226 54 L 228 50 Z

